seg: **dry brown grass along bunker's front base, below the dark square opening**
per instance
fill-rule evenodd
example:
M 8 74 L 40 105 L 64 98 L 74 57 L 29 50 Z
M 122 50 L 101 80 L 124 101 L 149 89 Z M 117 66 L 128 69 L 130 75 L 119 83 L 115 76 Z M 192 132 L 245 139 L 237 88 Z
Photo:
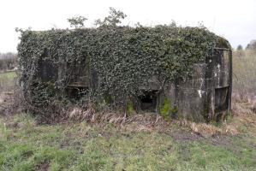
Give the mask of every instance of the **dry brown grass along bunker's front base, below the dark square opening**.
M 87 121 L 89 123 L 98 123 L 99 125 L 113 124 L 129 131 L 151 132 L 155 129 L 163 130 L 170 126 L 170 123 L 165 121 L 161 115 L 153 113 L 129 116 L 126 113 L 117 112 L 96 113 L 92 107 L 86 110 L 74 107 L 74 109 L 70 110 L 68 117 L 69 121 Z

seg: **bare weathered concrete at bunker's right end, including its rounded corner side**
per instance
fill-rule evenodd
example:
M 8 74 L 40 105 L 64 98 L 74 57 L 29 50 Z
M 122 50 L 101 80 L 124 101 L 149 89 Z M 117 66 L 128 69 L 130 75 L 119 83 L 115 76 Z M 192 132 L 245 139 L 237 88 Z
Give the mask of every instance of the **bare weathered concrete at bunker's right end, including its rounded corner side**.
M 165 96 L 170 99 L 171 113 L 193 121 L 219 120 L 229 112 L 231 102 L 231 53 L 216 49 L 205 63 L 193 65 L 191 80 L 177 81 L 170 85 Z

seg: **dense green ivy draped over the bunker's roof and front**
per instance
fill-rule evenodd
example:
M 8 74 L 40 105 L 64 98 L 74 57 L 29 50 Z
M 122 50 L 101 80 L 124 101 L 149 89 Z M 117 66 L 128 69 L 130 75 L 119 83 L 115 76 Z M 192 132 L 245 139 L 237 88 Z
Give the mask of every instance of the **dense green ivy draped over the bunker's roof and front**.
M 61 115 L 60 103 L 63 106 L 75 103 L 86 108 L 88 103 L 97 105 L 107 101 L 112 109 L 128 109 L 133 113 L 134 109 L 140 112 L 140 97 L 154 92 L 153 112 L 166 115 L 168 107 L 164 99 L 170 97 L 173 87 L 178 90 L 177 86 L 183 83 L 194 79 L 196 84 L 197 79 L 202 79 L 195 78 L 198 76 L 194 75 L 195 64 L 200 68 L 206 66 L 214 73 L 214 66 L 211 68 L 207 62 L 211 60 L 214 65 L 216 47 L 230 50 L 225 39 L 205 27 L 118 26 L 125 16 L 116 11 L 103 21 L 99 20 L 96 28 L 21 31 L 18 62 L 25 108 L 47 117 L 52 113 Z M 72 21 L 75 23 L 74 18 Z M 202 77 L 209 80 L 205 75 Z M 205 90 L 192 87 L 203 98 L 199 91 Z M 182 95 L 176 94 L 178 96 Z M 163 105 L 164 109 L 158 111 Z M 179 104 L 174 100 L 171 105 L 178 107 Z M 210 116 L 191 118 L 211 120 L 215 116 L 210 107 L 208 110 Z

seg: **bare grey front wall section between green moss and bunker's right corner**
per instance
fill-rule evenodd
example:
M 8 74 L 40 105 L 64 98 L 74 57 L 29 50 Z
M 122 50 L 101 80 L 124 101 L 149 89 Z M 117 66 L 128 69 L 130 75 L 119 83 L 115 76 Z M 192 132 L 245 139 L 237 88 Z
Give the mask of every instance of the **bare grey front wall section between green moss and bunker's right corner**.
M 171 108 L 177 109 L 177 113 L 172 115 L 194 121 L 205 121 L 205 117 L 208 117 L 211 104 L 208 96 L 211 95 L 212 86 L 206 85 L 205 70 L 205 63 L 194 64 L 191 80 L 170 85 L 167 97 L 170 98 Z

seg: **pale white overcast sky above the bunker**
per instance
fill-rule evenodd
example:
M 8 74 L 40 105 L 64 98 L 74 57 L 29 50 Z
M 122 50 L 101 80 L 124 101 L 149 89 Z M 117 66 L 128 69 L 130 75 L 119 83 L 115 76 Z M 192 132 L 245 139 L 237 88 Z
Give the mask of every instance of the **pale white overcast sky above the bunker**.
M 256 0 L 0 0 L 0 52 L 16 51 L 15 27 L 45 30 L 69 27 L 74 15 L 88 18 L 86 27 L 108 15 L 109 7 L 122 10 L 125 24 L 170 24 L 205 27 L 244 47 L 256 39 Z

